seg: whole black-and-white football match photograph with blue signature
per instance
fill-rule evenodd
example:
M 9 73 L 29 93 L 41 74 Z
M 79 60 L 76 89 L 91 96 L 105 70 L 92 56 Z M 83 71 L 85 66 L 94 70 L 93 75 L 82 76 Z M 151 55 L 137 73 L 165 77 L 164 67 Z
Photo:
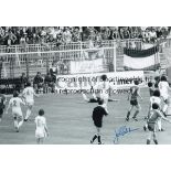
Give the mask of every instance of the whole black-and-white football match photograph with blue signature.
M 0 26 L 0 145 L 171 145 L 171 26 Z

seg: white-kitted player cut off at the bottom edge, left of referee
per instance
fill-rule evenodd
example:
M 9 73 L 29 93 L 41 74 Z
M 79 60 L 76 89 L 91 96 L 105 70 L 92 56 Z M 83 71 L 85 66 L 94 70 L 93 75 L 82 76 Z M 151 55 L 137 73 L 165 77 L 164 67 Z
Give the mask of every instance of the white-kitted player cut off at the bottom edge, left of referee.
M 39 145 L 43 143 L 44 138 L 49 136 L 46 119 L 43 115 L 44 115 L 44 110 L 40 109 L 39 116 L 35 117 L 35 126 L 36 126 L 35 138 L 36 138 L 36 143 Z

